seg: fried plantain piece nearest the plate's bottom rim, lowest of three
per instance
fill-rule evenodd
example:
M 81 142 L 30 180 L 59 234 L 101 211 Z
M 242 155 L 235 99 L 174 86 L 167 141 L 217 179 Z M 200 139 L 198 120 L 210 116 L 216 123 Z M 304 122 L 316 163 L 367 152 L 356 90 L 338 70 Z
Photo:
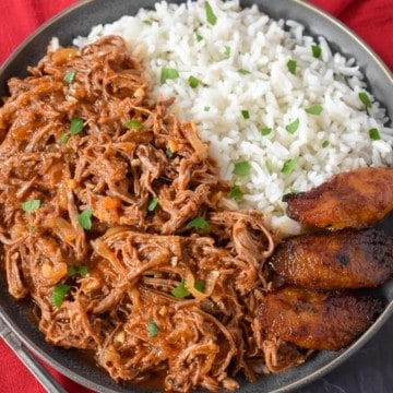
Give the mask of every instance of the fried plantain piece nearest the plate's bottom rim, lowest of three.
M 266 338 L 338 350 L 360 336 L 381 310 L 379 299 L 283 287 L 265 296 L 257 318 Z

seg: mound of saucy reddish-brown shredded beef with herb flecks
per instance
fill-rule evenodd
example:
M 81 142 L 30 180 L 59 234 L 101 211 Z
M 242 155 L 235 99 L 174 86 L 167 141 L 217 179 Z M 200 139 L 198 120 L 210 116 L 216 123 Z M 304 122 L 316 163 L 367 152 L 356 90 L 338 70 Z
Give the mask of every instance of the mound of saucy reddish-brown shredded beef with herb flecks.
M 255 325 L 274 247 L 262 214 L 218 207 L 229 188 L 207 145 L 172 99 L 148 98 L 121 38 L 49 49 L 28 71 L 0 108 L 12 296 L 32 297 L 49 343 L 92 352 L 116 381 L 254 380 L 272 356 Z

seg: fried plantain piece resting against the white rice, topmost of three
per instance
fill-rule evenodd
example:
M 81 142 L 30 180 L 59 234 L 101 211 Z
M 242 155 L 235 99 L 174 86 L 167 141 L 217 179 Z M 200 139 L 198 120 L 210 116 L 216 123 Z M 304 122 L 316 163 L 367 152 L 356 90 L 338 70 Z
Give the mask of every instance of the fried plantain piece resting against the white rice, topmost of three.
M 287 215 L 302 224 L 335 229 L 373 225 L 393 210 L 393 168 L 343 172 L 283 200 Z

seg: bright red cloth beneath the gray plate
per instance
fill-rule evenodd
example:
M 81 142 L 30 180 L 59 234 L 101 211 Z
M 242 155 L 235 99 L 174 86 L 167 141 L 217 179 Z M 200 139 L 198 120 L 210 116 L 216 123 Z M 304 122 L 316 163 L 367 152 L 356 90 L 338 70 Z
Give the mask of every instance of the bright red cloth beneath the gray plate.
M 75 0 L 1 0 L 0 64 L 35 28 L 75 2 Z M 391 0 L 311 0 L 311 2 L 349 26 L 393 70 Z M 1 392 L 45 392 L 2 341 L 0 341 L 0 366 Z M 50 371 L 68 392 L 90 392 L 55 370 L 50 369 Z

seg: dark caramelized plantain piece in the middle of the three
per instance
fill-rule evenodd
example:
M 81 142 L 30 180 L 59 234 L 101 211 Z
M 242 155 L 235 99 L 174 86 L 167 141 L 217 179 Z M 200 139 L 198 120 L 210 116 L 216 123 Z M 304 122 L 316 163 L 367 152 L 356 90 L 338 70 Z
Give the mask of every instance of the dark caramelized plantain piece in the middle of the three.
M 269 263 L 305 288 L 376 287 L 393 275 L 393 238 L 373 228 L 301 235 L 282 242 Z

